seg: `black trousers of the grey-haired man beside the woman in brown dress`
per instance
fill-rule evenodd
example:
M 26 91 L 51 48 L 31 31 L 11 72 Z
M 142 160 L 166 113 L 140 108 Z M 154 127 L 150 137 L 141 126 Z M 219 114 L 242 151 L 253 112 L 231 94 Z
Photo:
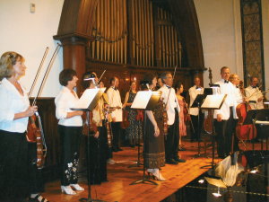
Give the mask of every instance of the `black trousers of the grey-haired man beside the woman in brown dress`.
M 178 110 L 176 110 L 175 122 L 173 125 L 169 125 L 168 135 L 165 141 L 166 161 L 178 158 L 178 144 L 179 144 L 179 119 L 178 119 Z

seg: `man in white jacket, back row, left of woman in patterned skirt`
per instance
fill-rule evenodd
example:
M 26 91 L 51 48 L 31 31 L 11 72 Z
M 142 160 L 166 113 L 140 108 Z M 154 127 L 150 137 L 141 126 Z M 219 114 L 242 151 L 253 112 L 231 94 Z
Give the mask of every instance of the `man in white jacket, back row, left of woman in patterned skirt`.
M 108 103 L 109 103 L 110 109 L 114 109 L 111 114 L 113 152 L 122 151 L 122 149 L 119 147 L 119 137 L 121 133 L 120 122 L 122 122 L 122 102 L 121 102 L 120 93 L 117 90 L 118 84 L 119 84 L 119 81 L 118 81 L 117 76 L 114 76 L 113 78 L 111 78 L 110 88 L 108 88 L 108 92 L 107 92 Z

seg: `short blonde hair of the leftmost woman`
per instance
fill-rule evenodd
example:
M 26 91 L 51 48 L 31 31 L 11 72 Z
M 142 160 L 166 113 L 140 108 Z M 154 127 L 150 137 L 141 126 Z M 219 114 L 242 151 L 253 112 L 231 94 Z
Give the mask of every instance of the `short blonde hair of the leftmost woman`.
M 0 58 L 0 81 L 3 78 L 9 78 L 13 75 L 13 66 L 18 60 L 24 60 L 19 53 L 8 51 L 5 52 Z

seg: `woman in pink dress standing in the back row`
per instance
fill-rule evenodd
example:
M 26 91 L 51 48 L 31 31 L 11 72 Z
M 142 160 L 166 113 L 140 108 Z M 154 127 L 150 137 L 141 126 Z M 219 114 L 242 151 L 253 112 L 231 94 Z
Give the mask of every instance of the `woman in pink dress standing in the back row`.
M 185 98 L 181 95 L 183 92 L 183 83 L 179 82 L 175 86 L 176 89 L 176 96 L 178 99 L 178 105 L 180 107 L 179 111 L 179 151 L 185 151 L 184 145 L 181 144 L 182 136 L 187 136 L 187 129 L 186 129 L 186 123 L 187 120 L 187 103 L 185 101 Z

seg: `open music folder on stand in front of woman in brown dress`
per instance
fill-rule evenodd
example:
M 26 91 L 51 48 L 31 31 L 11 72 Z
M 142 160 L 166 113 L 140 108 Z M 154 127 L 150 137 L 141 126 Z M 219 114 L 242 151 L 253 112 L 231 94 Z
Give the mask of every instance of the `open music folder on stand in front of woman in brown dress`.
M 160 101 L 161 92 L 140 91 L 137 92 L 131 106 L 136 110 L 153 110 Z

